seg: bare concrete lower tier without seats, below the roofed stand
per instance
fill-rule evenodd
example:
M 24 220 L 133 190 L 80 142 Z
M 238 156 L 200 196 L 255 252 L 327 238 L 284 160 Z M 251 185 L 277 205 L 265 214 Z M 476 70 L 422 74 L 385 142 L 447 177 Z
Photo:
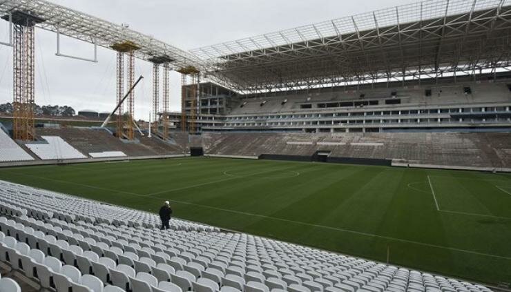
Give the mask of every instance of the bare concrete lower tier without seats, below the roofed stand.
M 204 153 L 398 159 L 409 164 L 511 168 L 509 133 L 204 133 Z

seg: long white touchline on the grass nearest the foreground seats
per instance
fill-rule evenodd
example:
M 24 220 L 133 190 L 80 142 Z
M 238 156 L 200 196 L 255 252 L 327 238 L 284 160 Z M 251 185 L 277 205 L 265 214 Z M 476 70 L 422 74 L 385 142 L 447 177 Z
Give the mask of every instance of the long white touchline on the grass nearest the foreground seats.
M 26 175 L 26 174 L 19 173 L 19 175 Z M 38 177 L 37 175 L 27 175 L 27 176 Z M 46 177 L 40 177 L 40 178 L 41 179 L 47 179 Z M 58 179 L 48 179 L 48 180 L 54 180 L 56 182 L 64 182 L 64 181 L 59 181 Z M 67 183 L 67 184 L 76 184 L 78 186 L 86 186 L 86 187 L 89 187 L 89 188 L 99 188 L 99 187 L 96 187 L 96 186 L 89 186 L 88 184 L 77 184 L 77 183 L 74 183 L 74 182 L 65 182 L 65 183 Z M 137 194 L 137 193 L 129 193 L 129 192 L 123 192 L 123 191 L 115 191 L 115 190 L 110 190 L 108 188 L 99 188 L 99 189 L 104 189 L 106 191 L 113 191 L 113 192 L 116 192 L 116 193 L 125 193 L 127 195 L 135 195 L 135 196 L 138 196 L 138 197 L 148 197 L 147 195 L 141 195 L 141 194 Z M 155 198 L 155 197 L 149 197 L 149 198 L 150 199 L 157 199 L 157 200 L 160 199 L 160 198 Z M 451 251 L 459 251 L 461 253 L 472 253 L 474 255 L 484 255 L 484 256 L 487 256 L 487 257 L 501 258 L 503 260 L 511 260 L 511 257 L 504 257 L 504 256 L 501 256 L 501 255 L 490 255 L 488 253 L 479 253 L 477 251 L 467 251 L 465 249 L 456 249 L 456 248 L 447 247 L 447 246 L 440 246 L 440 245 L 436 245 L 436 244 L 427 244 L 427 243 L 423 243 L 423 242 L 415 242 L 413 240 L 403 240 L 401 238 L 389 237 L 389 236 L 383 236 L 383 235 L 376 235 L 376 234 L 365 233 L 365 232 L 360 232 L 360 231 L 352 231 L 352 230 L 345 229 L 345 228 L 336 228 L 336 227 L 331 227 L 331 226 L 324 226 L 324 225 L 319 225 L 319 224 L 311 224 L 311 223 L 307 223 L 307 222 L 300 222 L 300 221 L 282 219 L 282 218 L 278 218 L 278 217 L 270 217 L 270 216 L 266 216 L 266 215 L 259 215 L 259 214 L 247 213 L 247 212 L 242 212 L 242 211 L 229 210 L 229 209 L 218 208 L 218 207 L 213 207 L 213 206 L 206 206 L 206 205 L 202 205 L 202 204 L 193 204 L 193 203 L 189 203 L 189 202 L 177 201 L 175 199 L 171 199 L 170 201 L 171 202 L 176 202 L 178 204 L 187 204 L 187 205 L 191 205 L 191 206 L 200 206 L 200 207 L 203 207 L 203 208 L 211 208 L 211 209 L 219 210 L 219 211 L 237 213 L 237 214 L 248 215 L 248 216 L 253 216 L 253 217 L 262 217 L 262 218 L 266 218 L 266 219 L 270 219 L 270 220 L 278 220 L 278 221 L 290 222 L 290 223 L 307 225 L 307 226 L 313 226 L 313 227 L 318 227 L 318 228 L 331 229 L 331 230 L 342 231 L 342 232 L 346 232 L 346 233 L 354 233 L 354 234 L 358 234 L 358 235 L 365 235 L 365 236 L 368 236 L 368 237 L 378 237 L 378 238 L 383 238 L 383 239 L 386 239 L 386 240 L 394 240 L 394 241 L 398 241 L 398 242 L 407 242 L 407 243 L 410 243 L 410 244 L 430 246 L 430 247 L 434 247 L 434 248 L 438 248 L 438 249 L 447 249 L 447 250 L 451 250 Z M 99 202 L 99 201 L 96 201 L 96 202 Z M 445 211 L 445 212 L 450 212 L 450 211 Z

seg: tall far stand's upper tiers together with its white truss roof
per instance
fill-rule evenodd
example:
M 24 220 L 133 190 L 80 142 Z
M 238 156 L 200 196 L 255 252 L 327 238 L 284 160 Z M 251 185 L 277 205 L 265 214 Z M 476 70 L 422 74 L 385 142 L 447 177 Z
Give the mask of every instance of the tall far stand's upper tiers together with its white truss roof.
M 430 1 L 197 48 L 217 82 L 183 110 L 198 131 L 508 131 L 510 19 Z

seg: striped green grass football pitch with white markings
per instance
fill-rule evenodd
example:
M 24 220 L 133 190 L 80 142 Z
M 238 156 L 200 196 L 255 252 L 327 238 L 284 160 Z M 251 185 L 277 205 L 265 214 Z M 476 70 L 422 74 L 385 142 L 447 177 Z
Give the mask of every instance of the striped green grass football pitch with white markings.
M 511 282 L 511 175 L 183 158 L 0 169 L 0 179 L 423 271 Z

